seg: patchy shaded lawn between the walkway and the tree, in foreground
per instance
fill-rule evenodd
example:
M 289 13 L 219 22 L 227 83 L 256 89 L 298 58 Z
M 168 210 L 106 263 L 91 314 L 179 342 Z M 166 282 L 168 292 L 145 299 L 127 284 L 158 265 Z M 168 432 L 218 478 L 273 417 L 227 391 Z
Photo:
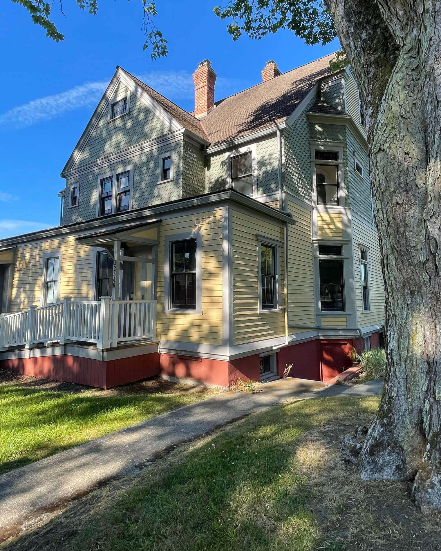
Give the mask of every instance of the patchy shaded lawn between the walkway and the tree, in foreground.
M 363 482 L 340 460 L 342 436 L 377 406 L 321 398 L 251 415 L 95 490 L 5 548 L 439 550 L 440 517 L 424 517 L 408 485 Z

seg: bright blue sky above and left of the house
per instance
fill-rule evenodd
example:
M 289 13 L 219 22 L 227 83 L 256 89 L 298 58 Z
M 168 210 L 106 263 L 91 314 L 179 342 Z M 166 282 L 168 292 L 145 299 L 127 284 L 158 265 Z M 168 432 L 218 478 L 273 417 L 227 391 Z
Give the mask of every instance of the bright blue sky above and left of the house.
M 273 59 L 282 72 L 338 49 L 306 46 L 289 31 L 261 41 L 233 42 L 213 15 L 216 0 L 158 0 L 156 23 L 169 55 L 152 61 L 142 50 L 141 0 L 99 0 L 95 17 L 64 0 L 53 19 L 65 36 L 53 42 L 18 4 L 3 0 L 0 19 L 0 239 L 58 225 L 60 172 L 116 65 L 191 111 L 191 74 L 205 58 L 217 73 L 215 99 L 261 81 Z

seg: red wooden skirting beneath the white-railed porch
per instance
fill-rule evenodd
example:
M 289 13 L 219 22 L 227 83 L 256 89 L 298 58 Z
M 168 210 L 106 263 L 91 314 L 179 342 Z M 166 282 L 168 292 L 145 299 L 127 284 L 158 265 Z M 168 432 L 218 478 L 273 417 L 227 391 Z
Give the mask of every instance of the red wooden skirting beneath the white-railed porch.
M 0 361 L 0 367 L 30 377 L 111 388 L 158 375 L 159 354 L 110 361 L 80 358 L 70 354 L 14 358 Z

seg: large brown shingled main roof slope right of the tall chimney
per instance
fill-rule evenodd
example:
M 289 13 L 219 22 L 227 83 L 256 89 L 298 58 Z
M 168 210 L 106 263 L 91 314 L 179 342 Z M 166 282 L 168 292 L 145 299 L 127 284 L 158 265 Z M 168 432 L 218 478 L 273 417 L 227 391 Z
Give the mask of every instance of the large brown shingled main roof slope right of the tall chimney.
M 314 84 L 331 73 L 329 62 L 334 56 L 331 53 L 217 101 L 215 109 L 201 118 L 211 145 L 286 121 Z

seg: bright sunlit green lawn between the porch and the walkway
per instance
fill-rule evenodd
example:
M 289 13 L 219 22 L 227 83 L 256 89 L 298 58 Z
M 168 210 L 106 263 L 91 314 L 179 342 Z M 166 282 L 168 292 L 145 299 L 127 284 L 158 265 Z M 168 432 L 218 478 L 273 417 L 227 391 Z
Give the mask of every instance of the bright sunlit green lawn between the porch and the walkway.
M 130 387 L 128 392 L 78 387 L 66 392 L 0 384 L 0 473 L 214 393 L 184 385 L 175 392 L 133 394 Z

